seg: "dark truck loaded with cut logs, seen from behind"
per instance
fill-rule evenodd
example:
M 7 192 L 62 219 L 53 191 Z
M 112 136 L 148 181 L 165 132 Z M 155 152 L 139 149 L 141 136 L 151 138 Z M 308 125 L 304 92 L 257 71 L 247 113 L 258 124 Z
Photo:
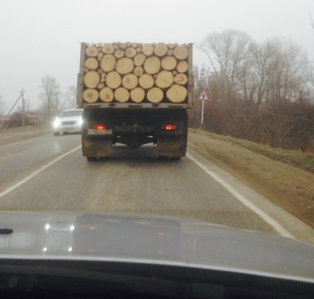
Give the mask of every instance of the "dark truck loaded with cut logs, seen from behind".
M 192 44 L 82 43 L 83 156 L 107 158 L 116 143 L 154 143 L 161 159 L 184 157 L 192 92 Z

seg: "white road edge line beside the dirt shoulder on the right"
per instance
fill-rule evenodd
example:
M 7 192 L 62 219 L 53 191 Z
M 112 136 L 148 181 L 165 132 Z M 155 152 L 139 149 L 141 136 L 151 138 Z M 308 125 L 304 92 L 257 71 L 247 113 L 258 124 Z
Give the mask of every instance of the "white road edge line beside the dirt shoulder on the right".
M 197 161 L 192 155 L 189 153 L 186 154 L 186 157 L 196 163 L 199 167 L 201 167 L 209 176 L 211 176 L 212 179 L 214 179 L 217 183 L 221 184 L 223 187 L 225 187 L 235 198 L 240 201 L 244 206 L 251 209 L 254 213 L 259 215 L 262 220 L 264 220 L 266 223 L 268 223 L 271 227 L 274 228 L 279 234 L 282 236 L 286 236 L 289 238 L 294 238 L 288 230 L 286 230 L 281 224 L 279 224 L 275 219 L 270 217 L 268 214 L 266 214 L 263 210 L 261 210 L 259 207 L 255 206 L 252 202 L 250 202 L 245 196 L 243 196 L 241 193 L 239 193 L 231 184 L 228 184 L 225 182 L 222 178 L 220 178 L 216 173 L 213 171 L 210 171 L 206 166 L 204 166 L 200 161 Z

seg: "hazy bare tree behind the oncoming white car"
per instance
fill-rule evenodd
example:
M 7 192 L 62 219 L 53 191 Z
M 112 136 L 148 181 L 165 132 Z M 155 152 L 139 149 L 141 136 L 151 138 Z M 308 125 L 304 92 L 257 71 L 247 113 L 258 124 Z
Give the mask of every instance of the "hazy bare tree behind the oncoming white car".
M 52 112 L 58 110 L 58 97 L 60 96 L 60 87 L 56 83 L 56 79 L 52 76 L 46 76 L 41 78 L 42 90 L 40 93 L 40 99 L 43 101 L 42 109 L 47 115 L 47 119 L 50 122 Z

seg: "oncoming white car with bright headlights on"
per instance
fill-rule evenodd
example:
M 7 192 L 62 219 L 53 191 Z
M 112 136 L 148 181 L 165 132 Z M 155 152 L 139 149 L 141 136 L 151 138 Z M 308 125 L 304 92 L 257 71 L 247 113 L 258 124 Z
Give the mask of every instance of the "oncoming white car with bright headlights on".
M 82 114 L 84 109 L 63 110 L 53 121 L 53 135 L 82 132 Z

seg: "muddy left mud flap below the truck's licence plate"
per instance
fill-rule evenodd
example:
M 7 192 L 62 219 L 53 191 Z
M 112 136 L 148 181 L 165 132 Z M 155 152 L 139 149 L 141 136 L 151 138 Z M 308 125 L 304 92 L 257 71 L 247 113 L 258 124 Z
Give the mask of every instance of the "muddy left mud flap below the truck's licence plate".
M 108 138 L 88 138 L 82 135 L 82 152 L 87 160 L 107 158 L 112 150 L 112 137 Z

